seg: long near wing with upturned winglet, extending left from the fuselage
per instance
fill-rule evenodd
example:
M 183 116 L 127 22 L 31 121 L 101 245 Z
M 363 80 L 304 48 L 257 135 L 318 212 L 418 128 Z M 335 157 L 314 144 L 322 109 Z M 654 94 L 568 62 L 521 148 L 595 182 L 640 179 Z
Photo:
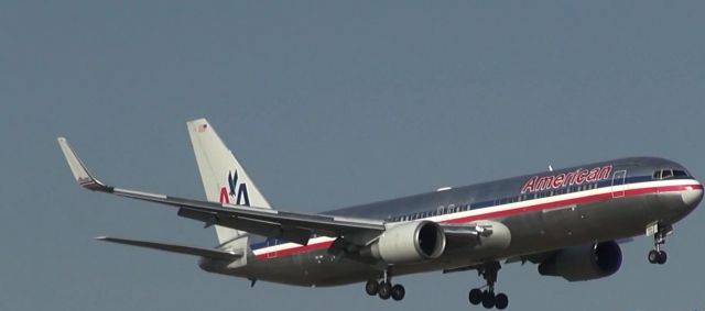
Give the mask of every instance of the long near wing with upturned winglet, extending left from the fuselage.
M 386 230 L 384 222 L 380 220 L 275 211 L 107 186 L 88 171 L 66 138 L 57 140 L 74 178 L 82 187 L 91 191 L 175 207 L 178 208 L 178 215 L 203 221 L 206 226 L 217 224 L 303 245 L 306 245 L 313 235 L 345 237 L 356 244 L 365 244 Z

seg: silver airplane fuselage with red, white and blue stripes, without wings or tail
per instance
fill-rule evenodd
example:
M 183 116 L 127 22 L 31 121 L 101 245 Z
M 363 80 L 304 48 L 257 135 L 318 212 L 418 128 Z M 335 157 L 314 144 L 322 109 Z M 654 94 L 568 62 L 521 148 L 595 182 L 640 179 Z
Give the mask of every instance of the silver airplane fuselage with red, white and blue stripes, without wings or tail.
M 499 248 L 455 247 L 432 260 L 395 265 L 394 275 L 454 269 L 567 246 L 644 233 L 654 222 L 673 224 L 701 201 L 703 186 L 671 160 L 631 157 L 524 175 L 491 182 L 356 206 L 322 214 L 383 220 L 387 225 L 430 220 L 494 221 L 511 241 Z M 335 286 L 376 278 L 380 269 L 329 254 L 333 237 L 307 245 L 250 235 L 247 265 L 202 258 L 203 269 L 300 286 Z

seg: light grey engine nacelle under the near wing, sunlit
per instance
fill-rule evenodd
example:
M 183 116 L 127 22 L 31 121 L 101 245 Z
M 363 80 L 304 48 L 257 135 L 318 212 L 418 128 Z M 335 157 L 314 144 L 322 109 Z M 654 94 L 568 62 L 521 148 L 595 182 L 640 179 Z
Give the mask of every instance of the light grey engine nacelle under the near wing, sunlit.
M 435 259 L 445 251 L 445 234 L 432 221 L 403 223 L 384 231 L 369 251 L 388 264 Z

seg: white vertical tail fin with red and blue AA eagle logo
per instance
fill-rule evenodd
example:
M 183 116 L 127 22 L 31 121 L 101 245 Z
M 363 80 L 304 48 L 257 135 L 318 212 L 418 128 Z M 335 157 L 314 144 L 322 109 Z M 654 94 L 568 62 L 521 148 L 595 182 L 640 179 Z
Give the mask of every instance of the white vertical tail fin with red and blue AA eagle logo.
M 206 119 L 186 123 L 208 201 L 271 209 L 245 168 Z M 216 225 L 219 243 L 241 232 Z

